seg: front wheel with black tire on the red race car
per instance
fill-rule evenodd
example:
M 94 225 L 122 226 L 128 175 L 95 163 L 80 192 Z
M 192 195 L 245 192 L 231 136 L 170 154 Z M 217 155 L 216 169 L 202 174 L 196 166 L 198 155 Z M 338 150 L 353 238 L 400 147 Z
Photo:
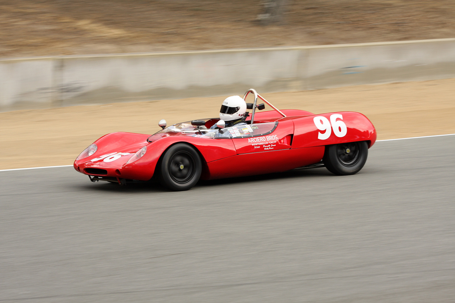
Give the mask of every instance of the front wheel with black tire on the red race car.
M 196 185 L 202 172 L 197 150 L 184 143 L 172 145 L 158 164 L 159 181 L 170 190 L 181 191 Z

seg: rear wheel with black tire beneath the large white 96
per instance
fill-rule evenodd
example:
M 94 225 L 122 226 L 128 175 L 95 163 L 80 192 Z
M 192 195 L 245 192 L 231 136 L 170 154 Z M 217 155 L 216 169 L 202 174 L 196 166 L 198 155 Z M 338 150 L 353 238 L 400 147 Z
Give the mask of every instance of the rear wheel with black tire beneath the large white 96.
M 339 176 L 357 174 L 368 157 L 368 144 L 365 141 L 327 145 L 324 164 L 333 174 Z

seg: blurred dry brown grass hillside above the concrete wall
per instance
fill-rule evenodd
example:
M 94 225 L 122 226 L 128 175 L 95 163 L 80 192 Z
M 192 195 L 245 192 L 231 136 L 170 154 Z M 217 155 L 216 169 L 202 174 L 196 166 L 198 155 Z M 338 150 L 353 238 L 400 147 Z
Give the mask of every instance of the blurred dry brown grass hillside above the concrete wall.
M 453 0 L 0 0 L 0 57 L 452 38 Z

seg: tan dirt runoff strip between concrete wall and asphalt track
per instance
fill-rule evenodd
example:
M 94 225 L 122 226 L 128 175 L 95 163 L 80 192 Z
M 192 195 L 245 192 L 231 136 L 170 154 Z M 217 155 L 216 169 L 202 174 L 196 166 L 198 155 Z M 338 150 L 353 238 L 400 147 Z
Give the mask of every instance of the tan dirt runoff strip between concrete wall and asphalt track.
M 314 114 L 357 111 L 373 122 L 378 139 L 396 139 L 455 133 L 454 93 L 455 79 L 444 79 L 272 93 L 263 97 L 279 109 L 304 109 Z M 116 131 L 153 134 L 159 130 L 160 119 L 171 125 L 217 117 L 224 98 L 0 113 L 0 169 L 70 165 L 83 149 L 104 134 Z

